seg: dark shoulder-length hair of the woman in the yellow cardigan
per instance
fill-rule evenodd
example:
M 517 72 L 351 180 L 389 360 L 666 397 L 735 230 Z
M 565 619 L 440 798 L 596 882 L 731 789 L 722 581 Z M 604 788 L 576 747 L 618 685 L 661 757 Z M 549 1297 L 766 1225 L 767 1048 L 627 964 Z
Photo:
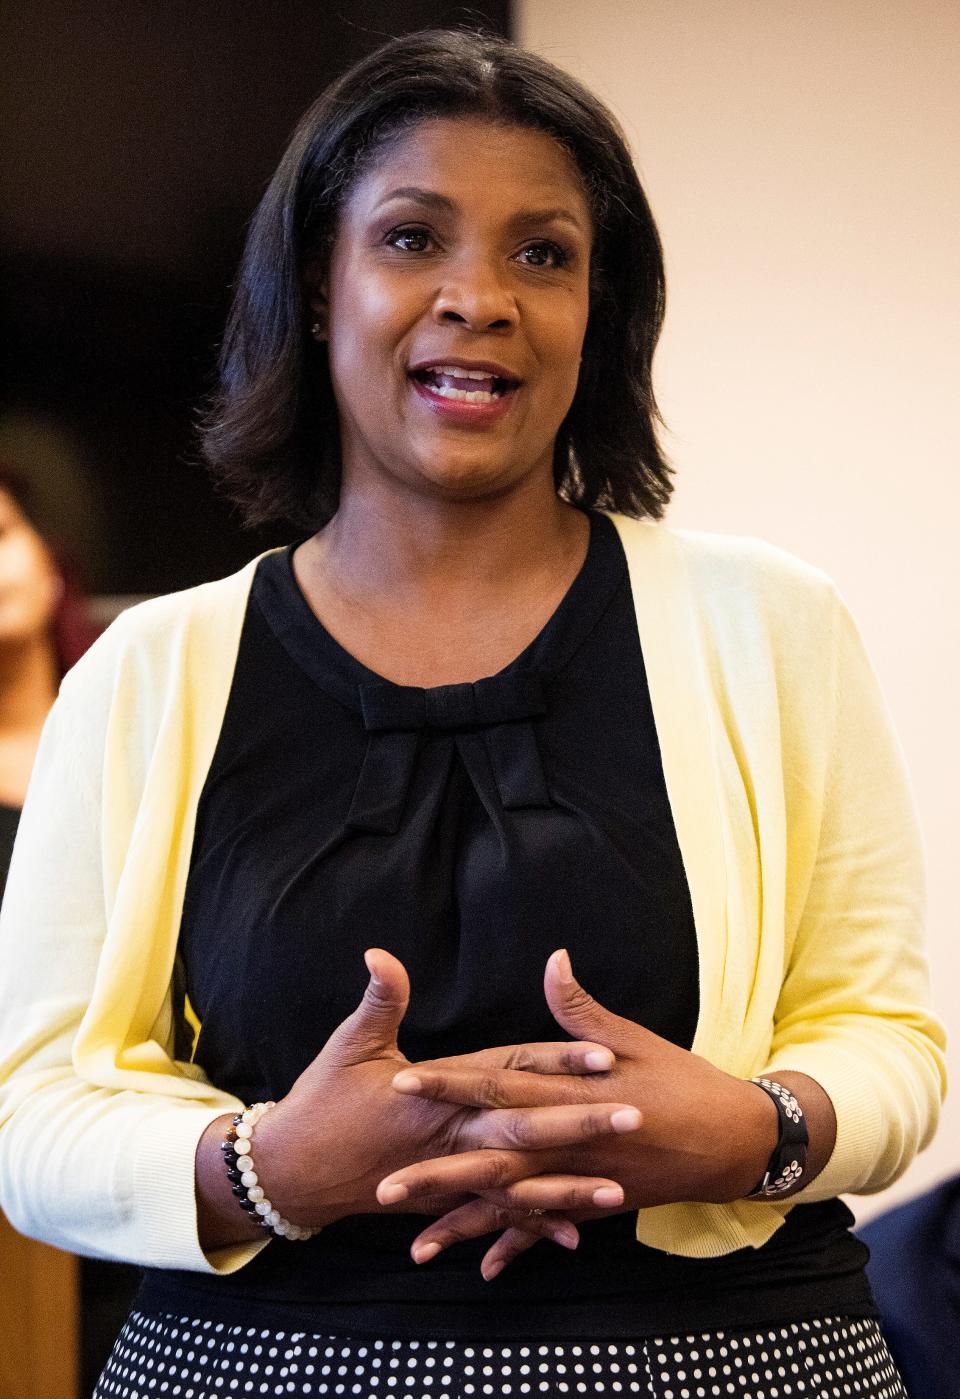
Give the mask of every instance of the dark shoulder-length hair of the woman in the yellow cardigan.
M 595 224 L 591 311 L 554 478 L 582 508 L 663 513 L 672 480 L 651 375 L 663 256 L 623 133 L 544 59 L 491 35 L 430 29 L 382 45 L 318 98 L 252 220 L 220 385 L 203 416 L 204 456 L 249 525 L 312 530 L 336 512 L 336 402 L 326 347 L 308 333 L 304 267 L 329 257 L 343 201 L 386 141 L 418 120 L 456 116 L 544 132 L 575 161 Z

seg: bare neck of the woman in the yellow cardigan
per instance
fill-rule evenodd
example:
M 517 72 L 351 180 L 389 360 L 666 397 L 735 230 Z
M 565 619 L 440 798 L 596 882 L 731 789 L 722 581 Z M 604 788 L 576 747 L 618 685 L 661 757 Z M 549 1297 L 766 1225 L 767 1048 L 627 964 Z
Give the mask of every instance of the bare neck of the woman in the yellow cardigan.
M 312 562 L 358 603 L 507 595 L 582 553 L 586 537 L 582 512 L 553 481 L 469 501 L 382 495 L 343 490 L 337 513 L 311 540 Z

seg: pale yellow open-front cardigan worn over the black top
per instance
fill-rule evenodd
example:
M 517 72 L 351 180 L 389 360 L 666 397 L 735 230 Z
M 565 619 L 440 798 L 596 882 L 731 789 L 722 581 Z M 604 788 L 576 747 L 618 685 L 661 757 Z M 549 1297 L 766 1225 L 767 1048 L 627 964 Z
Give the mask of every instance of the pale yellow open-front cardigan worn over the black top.
M 697 925 L 694 1052 L 830 1094 L 837 1146 L 798 1199 L 882 1189 L 933 1132 L 943 1031 L 912 803 L 856 630 L 778 550 L 614 522 Z M 171 992 L 253 569 L 109 628 L 63 683 L 27 797 L 0 918 L 0 1203 L 77 1252 L 232 1272 L 264 1247 L 199 1245 L 196 1143 L 237 1100 L 172 1058 Z M 711 1256 L 789 1207 L 659 1206 L 637 1237 Z

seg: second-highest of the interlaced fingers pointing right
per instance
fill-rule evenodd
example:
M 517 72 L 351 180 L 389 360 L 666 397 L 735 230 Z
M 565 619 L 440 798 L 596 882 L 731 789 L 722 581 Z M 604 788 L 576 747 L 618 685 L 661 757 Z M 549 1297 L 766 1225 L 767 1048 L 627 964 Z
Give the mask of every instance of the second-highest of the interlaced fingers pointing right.
M 491 1108 L 465 1115 L 455 1126 L 455 1144 L 458 1151 L 469 1151 L 472 1147 L 546 1151 L 557 1146 L 581 1146 L 602 1136 L 637 1132 L 641 1122 L 640 1109 L 626 1102 Z

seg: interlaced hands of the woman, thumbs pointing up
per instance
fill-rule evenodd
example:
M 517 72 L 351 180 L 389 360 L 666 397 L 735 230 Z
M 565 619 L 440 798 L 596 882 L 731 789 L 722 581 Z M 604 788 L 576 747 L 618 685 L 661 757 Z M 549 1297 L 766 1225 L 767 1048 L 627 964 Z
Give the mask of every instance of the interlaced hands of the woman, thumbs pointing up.
M 420 1263 L 500 1231 L 481 1262 L 491 1279 L 539 1238 L 575 1248 L 578 1220 L 732 1200 L 763 1174 L 777 1140 L 767 1095 L 598 1004 L 564 951 L 544 995 L 574 1042 L 417 1065 L 396 1042 L 407 974 L 382 949 L 365 960 L 360 1007 L 257 1129 L 287 1217 L 438 1216 L 411 1245 Z

